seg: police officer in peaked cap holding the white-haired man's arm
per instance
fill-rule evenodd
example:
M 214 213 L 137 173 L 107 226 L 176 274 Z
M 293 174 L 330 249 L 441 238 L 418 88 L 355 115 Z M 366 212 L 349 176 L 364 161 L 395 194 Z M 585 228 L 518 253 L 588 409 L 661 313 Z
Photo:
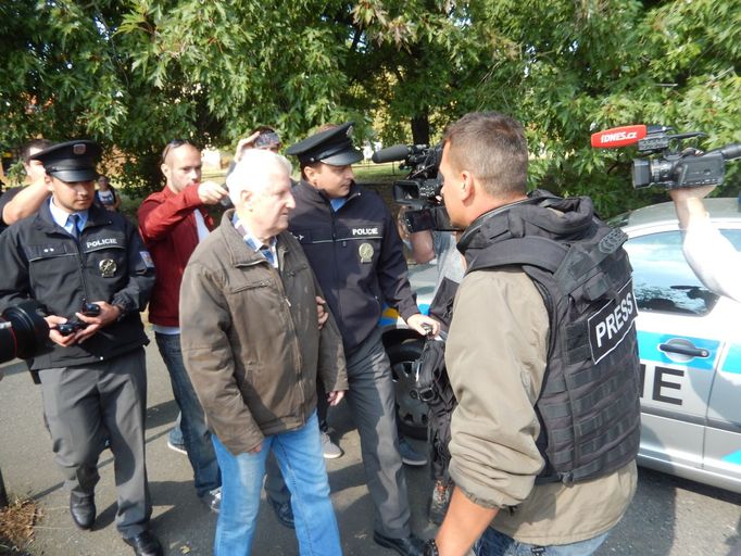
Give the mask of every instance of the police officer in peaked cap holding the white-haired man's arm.
M 348 401 L 361 437 L 363 465 L 375 504 L 374 541 L 417 555 L 406 479 L 399 454 L 391 366 L 378 329 L 384 301 L 425 334 L 438 323 L 420 315 L 407 279 L 394 220 L 384 201 L 357 186 L 351 164 L 352 123 L 325 128 L 286 152 L 298 156 L 302 180 L 293 188 L 289 229 L 303 247 L 342 334 Z

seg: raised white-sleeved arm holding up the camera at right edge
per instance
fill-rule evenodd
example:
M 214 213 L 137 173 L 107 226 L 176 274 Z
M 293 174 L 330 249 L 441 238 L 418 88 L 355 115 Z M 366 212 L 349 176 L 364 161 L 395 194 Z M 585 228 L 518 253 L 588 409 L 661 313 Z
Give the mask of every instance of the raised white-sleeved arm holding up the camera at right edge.
M 711 222 L 703 199 L 715 186 L 671 189 L 682 249 L 692 271 L 715 293 L 741 302 L 741 254 Z

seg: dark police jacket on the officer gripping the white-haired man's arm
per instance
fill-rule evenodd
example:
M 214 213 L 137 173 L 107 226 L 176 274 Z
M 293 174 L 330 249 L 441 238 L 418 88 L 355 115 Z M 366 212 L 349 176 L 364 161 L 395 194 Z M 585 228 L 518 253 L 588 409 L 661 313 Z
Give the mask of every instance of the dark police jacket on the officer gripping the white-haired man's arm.
M 399 232 L 380 197 L 353 184 L 335 212 L 329 199 L 304 180 L 293 197 L 289 230 L 316 273 L 347 351 L 378 326 L 384 301 L 404 319 L 419 313 Z

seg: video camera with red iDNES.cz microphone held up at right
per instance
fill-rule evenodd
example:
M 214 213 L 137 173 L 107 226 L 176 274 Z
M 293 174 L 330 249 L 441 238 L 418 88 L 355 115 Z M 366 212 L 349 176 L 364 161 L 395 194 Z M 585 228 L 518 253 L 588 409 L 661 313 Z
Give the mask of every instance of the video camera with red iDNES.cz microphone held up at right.
M 731 143 L 706 153 L 694 147 L 682 149 L 682 141 L 705 134 L 668 135 L 671 127 L 623 126 L 592 135 L 592 147 L 615 149 L 638 143 L 638 152 L 655 157 L 635 159 L 632 170 L 633 188 L 653 185 L 666 189 L 681 187 L 719 186 L 726 175 L 726 161 L 741 156 L 741 143 Z M 674 148 L 673 148 L 674 146 Z

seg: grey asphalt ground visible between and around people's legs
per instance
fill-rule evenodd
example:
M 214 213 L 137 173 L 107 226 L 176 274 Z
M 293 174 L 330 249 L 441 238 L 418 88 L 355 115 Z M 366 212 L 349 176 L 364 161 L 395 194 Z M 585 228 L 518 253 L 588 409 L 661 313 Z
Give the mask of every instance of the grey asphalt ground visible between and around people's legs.
M 192 471 L 185 456 L 167 448 L 167 432 L 177 416 L 167 371 L 156 346 L 147 349 L 149 369 L 147 460 L 154 504 L 152 529 L 168 555 L 209 555 L 215 516 L 203 507 L 192 489 Z M 101 481 L 96 493 L 99 517 L 90 532 L 77 530 L 68 515 L 68 495 L 53 463 L 51 442 L 43 428 L 41 392 L 25 364 L 0 365 L 0 469 L 9 493 L 36 500 L 42 518 L 26 551 L 48 556 L 129 555 L 115 529 L 115 492 L 110 452 L 100 460 Z M 348 556 L 391 556 L 372 540 L 373 506 L 360 460 L 360 443 L 347 405 L 332 409 L 330 424 L 346 451 L 327 463 L 332 503 Z M 422 444 L 416 443 L 418 447 Z M 412 527 L 423 538 L 435 533 L 425 518 L 430 488 L 425 468 L 406 468 Z M 293 532 L 281 527 L 266 504 L 259 516 L 255 555 L 298 554 Z M 741 495 L 640 471 L 639 489 L 626 517 L 598 553 L 599 556 L 741 556 Z

